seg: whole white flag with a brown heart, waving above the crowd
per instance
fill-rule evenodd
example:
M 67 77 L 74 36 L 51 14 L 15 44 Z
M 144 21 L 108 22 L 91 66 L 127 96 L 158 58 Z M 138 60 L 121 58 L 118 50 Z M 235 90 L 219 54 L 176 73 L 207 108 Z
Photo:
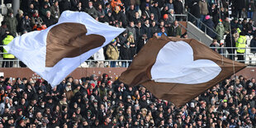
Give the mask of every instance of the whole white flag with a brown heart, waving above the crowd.
M 85 12 L 65 11 L 55 25 L 18 36 L 4 49 L 55 87 L 123 31 Z

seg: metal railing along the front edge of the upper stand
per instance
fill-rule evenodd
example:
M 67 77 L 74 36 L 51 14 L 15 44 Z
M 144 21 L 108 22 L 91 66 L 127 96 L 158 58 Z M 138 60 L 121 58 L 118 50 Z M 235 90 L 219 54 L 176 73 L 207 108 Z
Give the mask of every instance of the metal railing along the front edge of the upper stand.
M 211 49 L 217 49 L 220 50 L 221 53 L 220 55 L 225 56 L 226 58 L 229 58 L 230 55 L 234 55 L 235 57 L 235 61 L 238 62 L 244 62 L 245 64 L 248 64 L 250 66 L 256 66 L 256 53 L 251 53 L 251 50 L 256 50 L 256 47 L 245 47 L 245 52 L 244 54 L 238 54 L 236 53 L 228 53 L 227 49 L 234 49 L 236 50 L 236 47 L 210 47 Z M 1 55 L 4 53 L 0 53 Z M 237 60 L 237 55 L 244 55 L 244 60 Z M 2 59 L 0 57 L 0 64 L 2 64 L 2 62 L 13 62 L 14 67 L 12 68 L 20 68 L 21 66 L 19 65 L 20 60 L 19 59 Z M 116 62 L 116 68 L 120 68 L 120 67 L 124 67 L 127 68 L 129 67 L 130 63 L 132 62 L 132 60 L 110 60 L 110 59 L 106 59 L 106 60 L 93 60 L 93 59 L 88 59 L 86 61 L 83 62 L 83 64 L 81 64 L 79 67 L 80 68 L 92 68 L 92 67 L 98 67 L 98 68 L 109 68 L 111 66 L 111 62 L 115 61 Z M 101 63 L 101 64 L 99 64 Z M 2 65 L 0 65 L 2 66 Z

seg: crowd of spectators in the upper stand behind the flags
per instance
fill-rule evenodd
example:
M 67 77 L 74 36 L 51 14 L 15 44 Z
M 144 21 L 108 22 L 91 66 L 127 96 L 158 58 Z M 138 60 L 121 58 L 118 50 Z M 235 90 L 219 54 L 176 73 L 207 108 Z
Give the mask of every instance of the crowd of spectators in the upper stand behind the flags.
M 12 0 L 5 0 L 4 3 L 12 3 Z M 13 16 L 12 8 L 8 9 L 0 27 L 0 37 L 3 40 L 10 34 L 17 36 L 44 30 L 55 24 L 62 12 L 72 10 L 87 12 L 97 21 L 126 28 L 110 45 L 93 55 L 95 60 L 133 59 L 153 36 L 187 38 L 187 32 L 182 31 L 178 23 L 183 20 L 192 21 L 216 39 L 217 43 L 211 46 L 235 47 L 239 35 L 254 36 L 255 6 L 254 0 L 21 0 L 17 16 Z M 186 12 L 192 13 L 193 17 L 177 16 Z M 230 36 L 234 40 L 230 40 Z M 250 46 L 255 47 L 256 44 Z M 228 53 L 235 54 L 235 49 L 228 50 Z M 244 54 L 243 51 L 239 53 Z M 234 55 L 230 55 L 230 59 L 234 59 Z M 102 62 L 97 62 L 97 65 L 104 65 Z M 126 62 L 121 64 L 123 67 L 126 65 Z M 115 67 L 116 62 L 111 62 L 110 66 Z

